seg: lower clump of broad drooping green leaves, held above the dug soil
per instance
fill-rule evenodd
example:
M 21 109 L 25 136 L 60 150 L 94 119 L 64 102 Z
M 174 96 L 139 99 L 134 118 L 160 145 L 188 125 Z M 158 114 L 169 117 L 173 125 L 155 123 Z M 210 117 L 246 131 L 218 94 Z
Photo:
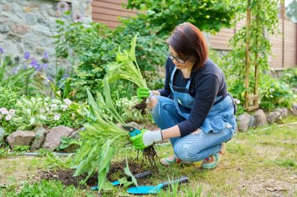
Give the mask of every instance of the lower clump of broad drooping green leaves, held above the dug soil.
M 108 84 L 105 85 L 108 86 Z M 84 184 L 98 167 L 99 191 L 105 185 L 105 176 L 114 155 L 114 150 L 121 149 L 129 143 L 128 132 L 112 122 L 112 120 L 117 120 L 121 124 L 124 123 L 121 122 L 119 114 L 114 111 L 112 102 L 107 102 L 108 98 L 110 98 L 108 89 L 104 91 L 105 101 L 103 100 L 99 104 L 95 102 L 90 91 L 87 91 L 90 111 L 95 121 L 91 122 L 91 124 L 84 124 L 85 131 L 80 131 L 80 139 L 83 140 L 83 143 L 74 157 L 74 164 L 76 165 L 74 176 L 87 172 L 87 177 L 81 184 Z M 108 111 L 108 114 L 101 113 L 104 111 Z

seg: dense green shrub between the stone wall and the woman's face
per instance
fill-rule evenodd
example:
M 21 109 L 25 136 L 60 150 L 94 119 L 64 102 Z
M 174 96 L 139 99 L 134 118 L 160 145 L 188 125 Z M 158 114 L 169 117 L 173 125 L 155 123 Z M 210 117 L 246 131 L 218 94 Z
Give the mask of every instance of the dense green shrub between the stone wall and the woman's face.
M 76 91 L 77 100 L 85 99 L 86 89 L 93 94 L 101 91 L 105 69 L 114 61 L 117 48 L 120 45 L 122 48 L 130 48 L 130 40 L 140 29 L 133 30 L 130 27 L 132 24 L 127 26 L 128 21 L 123 23 L 123 26 L 111 30 L 99 23 L 84 26 L 79 23 L 58 22 L 56 53 L 57 57 L 67 58 L 73 64 L 69 89 Z M 133 25 L 135 29 L 137 26 Z M 139 34 L 136 58 L 142 73 L 149 71 L 147 77 L 154 75 L 155 66 L 164 64 L 164 55 L 160 53 L 165 48 L 163 43 L 149 28 Z

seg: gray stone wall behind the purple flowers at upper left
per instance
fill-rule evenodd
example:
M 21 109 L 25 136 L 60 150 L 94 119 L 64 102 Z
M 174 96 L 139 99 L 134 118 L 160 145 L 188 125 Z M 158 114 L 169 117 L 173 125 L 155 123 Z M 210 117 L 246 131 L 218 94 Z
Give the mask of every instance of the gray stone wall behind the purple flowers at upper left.
M 67 1 L 72 14 L 83 16 L 83 22 L 92 21 L 92 0 Z M 0 46 L 5 53 L 22 61 L 28 51 L 40 60 L 44 52 L 49 54 L 49 66 L 45 72 L 55 72 L 56 19 L 61 17 L 54 0 L 0 0 Z M 69 16 L 69 19 L 72 19 Z M 65 65 L 65 64 L 63 64 Z M 67 65 L 66 65 L 67 66 Z

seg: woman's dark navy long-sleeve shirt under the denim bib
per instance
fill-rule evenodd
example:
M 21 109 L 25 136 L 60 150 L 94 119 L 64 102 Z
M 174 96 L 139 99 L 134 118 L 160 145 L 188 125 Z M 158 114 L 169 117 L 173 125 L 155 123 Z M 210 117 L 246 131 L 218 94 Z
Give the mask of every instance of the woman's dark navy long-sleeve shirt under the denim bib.
M 165 85 L 164 88 L 158 90 L 161 96 L 168 97 L 171 93 L 169 82 L 174 67 L 172 60 L 168 58 Z M 188 79 L 184 78 L 182 72 L 177 69 L 173 77 L 173 86 L 185 87 Z M 178 123 L 180 135 L 184 136 L 196 131 L 203 124 L 216 97 L 223 95 L 226 91 L 227 86 L 223 72 L 214 62 L 207 59 L 204 66 L 196 73 L 193 73 L 189 85 L 189 94 L 195 99 L 194 106 L 191 109 L 189 119 Z

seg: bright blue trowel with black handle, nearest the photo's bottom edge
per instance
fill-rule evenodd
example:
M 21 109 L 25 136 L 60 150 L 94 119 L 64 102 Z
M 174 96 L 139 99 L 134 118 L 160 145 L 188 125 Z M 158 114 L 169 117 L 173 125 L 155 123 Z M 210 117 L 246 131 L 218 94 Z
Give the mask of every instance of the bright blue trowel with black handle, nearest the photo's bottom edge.
M 127 192 L 130 194 L 157 194 L 160 192 L 161 189 L 164 189 L 166 187 L 168 187 L 169 185 L 178 183 L 185 183 L 188 182 L 189 179 L 185 176 L 182 176 L 178 179 L 175 180 L 169 180 L 169 181 L 165 181 L 160 183 L 157 186 L 138 186 L 138 187 L 130 187 Z

